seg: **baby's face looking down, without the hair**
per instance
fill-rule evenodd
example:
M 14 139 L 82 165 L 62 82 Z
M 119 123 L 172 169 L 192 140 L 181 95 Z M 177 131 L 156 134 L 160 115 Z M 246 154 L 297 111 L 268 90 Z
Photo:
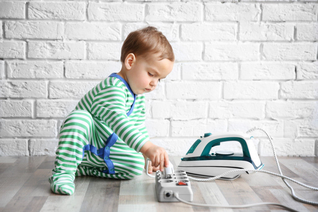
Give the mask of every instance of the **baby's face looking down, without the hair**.
M 136 58 L 135 64 L 126 74 L 128 84 L 135 94 L 153 91 L 160 79 L 172 71 L 173 62 L 169 59 L 157 60 L 157 54 L 147 59 Z

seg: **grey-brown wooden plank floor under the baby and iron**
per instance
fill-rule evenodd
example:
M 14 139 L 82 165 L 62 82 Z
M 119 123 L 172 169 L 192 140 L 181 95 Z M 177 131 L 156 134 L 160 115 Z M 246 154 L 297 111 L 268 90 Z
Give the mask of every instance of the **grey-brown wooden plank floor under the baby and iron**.
M 2 211 L 284 211 L 261 206 L 249 209 L 207 209 L 181 202 L 157 201 L 155 180 L 146 174 L 132 180 L 91 176 L 75 179 L 71 196 L 51 192 L 48 177 L 54 157 L 0 157 L 0 212 Z M 179 157 L 170 157 L 177 166 Z M 276 172 L 273 157 L 261 157 L 264 170 Z M 318 157 L 280 157 L 284 175 L 310 186 L 318 186 Z M 296 195 L 318 202 L 318 191 L 290 182 Z M 318 211 L 317 206 L 294 201 L 279 178 L 268 174 L 245 174 L 234 181 L 191 181 L 193 202 L 208 204 L 249 204 L 276 202 L 298 211 Z

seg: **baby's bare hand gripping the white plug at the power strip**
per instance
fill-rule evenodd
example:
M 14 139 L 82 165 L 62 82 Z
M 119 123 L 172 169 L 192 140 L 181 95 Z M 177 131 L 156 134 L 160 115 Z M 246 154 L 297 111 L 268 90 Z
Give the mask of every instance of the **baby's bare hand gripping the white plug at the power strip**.
M 151 161 L 151 166 L 153 167 L 151 171 L 159 170 L 162 172 L 163 167 L 169 166 L 169 157 L 166 152 L 166 150 L 162 147 L 158 147 L 151 143 L 150 141 L 147 141 L 142 148 L 140 149 L 140 152 L 144 154 L 147 158 Z M 150 170 L 148 170 L 149 173 Z

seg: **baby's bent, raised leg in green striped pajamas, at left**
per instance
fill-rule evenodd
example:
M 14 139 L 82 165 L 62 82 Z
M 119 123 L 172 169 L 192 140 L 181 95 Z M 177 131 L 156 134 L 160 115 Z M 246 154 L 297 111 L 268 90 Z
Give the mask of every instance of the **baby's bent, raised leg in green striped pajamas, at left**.
M 55 169 L 49 178 L 54 193 L 74 193 L 76 168 L 82 161 L 83 147 L 90 143 L 95 143 L 91 114 L 81 110 L 71 112 L 60 129 Z

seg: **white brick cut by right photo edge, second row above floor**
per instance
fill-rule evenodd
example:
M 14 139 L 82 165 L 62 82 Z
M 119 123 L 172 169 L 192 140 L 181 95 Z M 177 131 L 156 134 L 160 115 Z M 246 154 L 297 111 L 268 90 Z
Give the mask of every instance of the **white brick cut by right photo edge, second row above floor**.
M 285 120 L 284 137 L 296 139 L 299 137 L 317 137 L 317 114 L 305 119 Z

